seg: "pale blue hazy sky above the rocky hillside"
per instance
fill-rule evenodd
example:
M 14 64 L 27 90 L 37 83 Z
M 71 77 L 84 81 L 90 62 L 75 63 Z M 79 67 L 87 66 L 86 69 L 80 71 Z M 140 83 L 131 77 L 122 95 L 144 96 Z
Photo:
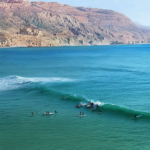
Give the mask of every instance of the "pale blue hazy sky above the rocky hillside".
M 32 1 L 32 0 L 30 0 Z M 134 22 L 150 26 L 150 0 L 36 0 L 71 6 L 111 9 L 124 13 Z

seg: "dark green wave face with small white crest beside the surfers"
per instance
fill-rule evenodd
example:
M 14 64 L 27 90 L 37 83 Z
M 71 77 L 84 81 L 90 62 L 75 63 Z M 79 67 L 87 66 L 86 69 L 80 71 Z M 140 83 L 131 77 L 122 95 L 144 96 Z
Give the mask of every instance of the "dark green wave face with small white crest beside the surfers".
M 57 99 L 61 99 L 62 101 L 68 101 L 68 102 L 74 103 L 75 105 L 83 104 L 83 103 L 86 105 L 88 103 L 93 102 L 94 105 L 97 106 L 95 111 L 102 110 L 103 112 L 115 113 L 117 115 L 125 115 L 129 117 L 134 117 L 135 115 L 143 115 L 143 117 L 145 118 L 150 118 L 149 112 L 133 110 L 133 109 L 129 109 L 126 107 L 115 105 L 115 104 L 104 103 L 101 101 L 88 99 L 87 97 L 83 95 L 62 93 L 62 92 L 52 90 L 42 85 L 35 86 L 32 88 L 25 88 L 23 90 L 25 90 L 25 92 L 29 92 L 31 90 L 32 92 L 35 92 L 36 94 L 47 95 L 48 97 L 53 96 Z

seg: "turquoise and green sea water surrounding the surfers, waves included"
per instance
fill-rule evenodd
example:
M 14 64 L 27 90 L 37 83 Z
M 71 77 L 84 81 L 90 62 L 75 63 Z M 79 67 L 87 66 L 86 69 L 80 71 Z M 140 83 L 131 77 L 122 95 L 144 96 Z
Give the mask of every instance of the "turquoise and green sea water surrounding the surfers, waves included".
M 0 49 L 0 150 L 149 150 L 149 58 L 150 45 Z

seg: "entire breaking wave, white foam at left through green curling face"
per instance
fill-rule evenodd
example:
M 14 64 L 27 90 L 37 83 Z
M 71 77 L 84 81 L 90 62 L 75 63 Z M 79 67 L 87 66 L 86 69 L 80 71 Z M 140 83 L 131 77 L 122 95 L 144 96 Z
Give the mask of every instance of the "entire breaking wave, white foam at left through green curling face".
M 38 86 L 26 86 L 32 83 L 47 83 L 47 82 L 74 82 L 76 80 L 69 78 L 25 78 L 20 76 L 9 76 L 5 78 L 0 78 L 0 91 L 13 90 L 21 88 L 25 93 L 35 92 L 36 94 L 42 94 L 47 96 L 56 96 L 63 101 L 75 102 L 75 104 L 84 103 L 85 105 L 93 102 L 96 105 L 95 111 L 99 109 L 103 112 L 116 113 L 118 115 L 134 116 L 134 115 L 143 115 L 143 117 L 150 118 L 149 112 L 137 111 L 130 108 L 122 107 L 115 104 L 103 103 L 96 100 L 91 100 L 82 95 L 77 94 L 66 94 L 60 91 L 55 91 L 50 89 L 45 85 Z M 24 87 L 24 88 L 23 88 Z

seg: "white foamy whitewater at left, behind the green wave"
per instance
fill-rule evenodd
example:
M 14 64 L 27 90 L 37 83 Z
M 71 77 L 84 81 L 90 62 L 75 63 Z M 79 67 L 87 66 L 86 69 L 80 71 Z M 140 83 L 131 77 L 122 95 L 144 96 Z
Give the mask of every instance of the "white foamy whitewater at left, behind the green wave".
M 30 83 L 48 83 L 48 82 L 74 82 L 75 80 L 69 78 L 59 77 L 20 77 L 20 76 L 9 76 L 0 78 L 0 91 L 14 90 L 17 88 L 24 87 Z

